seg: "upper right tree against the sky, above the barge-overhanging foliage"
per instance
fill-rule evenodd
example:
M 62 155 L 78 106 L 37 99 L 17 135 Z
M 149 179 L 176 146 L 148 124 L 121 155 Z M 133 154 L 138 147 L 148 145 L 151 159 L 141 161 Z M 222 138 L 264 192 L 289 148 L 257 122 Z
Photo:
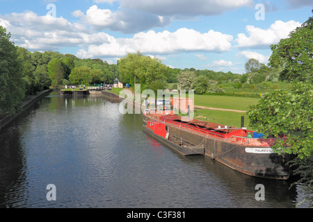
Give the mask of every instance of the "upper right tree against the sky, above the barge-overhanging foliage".
M 313 12 L 313 10 L 312 10 Z M 271 67 L 283 67 L 281 80 L 313 82 L 313 18 L 309 17 L 289 37 L 271 45 Z

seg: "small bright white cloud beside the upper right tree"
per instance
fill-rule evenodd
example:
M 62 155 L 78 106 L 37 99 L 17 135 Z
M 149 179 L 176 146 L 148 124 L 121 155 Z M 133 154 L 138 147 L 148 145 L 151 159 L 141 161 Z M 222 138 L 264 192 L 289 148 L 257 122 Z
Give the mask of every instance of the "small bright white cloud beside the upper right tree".
M 237 35 L 239 48 L 268 48 L 271 44 L 278 44 L 281 39 L 287 38 L 301 24 L 291 20 L 289 22 L 275 21 L 268 29 L 246 26 L 248 36 L 244 33 Z

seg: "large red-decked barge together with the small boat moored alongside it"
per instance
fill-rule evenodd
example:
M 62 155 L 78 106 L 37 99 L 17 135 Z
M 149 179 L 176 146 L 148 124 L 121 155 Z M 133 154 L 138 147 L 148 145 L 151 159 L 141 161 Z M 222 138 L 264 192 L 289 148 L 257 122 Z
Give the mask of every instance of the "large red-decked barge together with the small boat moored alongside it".
M 143 112 L 143 131 L 182 155 L 208 155 L 241 173 L 287 180 L 290 156 L 274 153 L 278 138 L 263 139 L 246 128 L 189 119 L 172 111 Z

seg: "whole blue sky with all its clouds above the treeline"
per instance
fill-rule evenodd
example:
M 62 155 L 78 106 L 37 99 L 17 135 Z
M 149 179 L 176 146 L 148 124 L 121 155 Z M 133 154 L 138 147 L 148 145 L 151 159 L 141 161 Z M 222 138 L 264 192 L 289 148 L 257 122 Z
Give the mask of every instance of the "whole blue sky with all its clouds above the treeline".
M 169 67 L 242 74 L 249 58 L 267 64 L 269 46 L 312 8 L 312 0 L 0 0 L 0 26 L 29 51 L 111 64 L 141 51 Z

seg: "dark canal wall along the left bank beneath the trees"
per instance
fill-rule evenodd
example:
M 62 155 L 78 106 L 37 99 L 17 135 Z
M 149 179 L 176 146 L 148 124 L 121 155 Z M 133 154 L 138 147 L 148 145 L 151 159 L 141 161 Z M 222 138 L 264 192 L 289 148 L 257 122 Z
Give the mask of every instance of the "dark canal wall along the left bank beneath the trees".
M 29 110 L 35 104 L 35 102 L 37 102 L 43 96 L 46 96 L 53 90 L 54 89 L 45 89 L 40 92 L 37 92 L 37 94 L 35 95 L 27 96 L 26 99 L 24 99 L 24 101 L 22 102 L 22 110 L 14 116 L 10 115 L 0 116 L 0 133 L 3 130 L 5 130 L 5 128 L 9 126 L 10 123 L 12 123 L 17 117 L 20 117 L 22 114 L 24 114 L 24 112 Z

